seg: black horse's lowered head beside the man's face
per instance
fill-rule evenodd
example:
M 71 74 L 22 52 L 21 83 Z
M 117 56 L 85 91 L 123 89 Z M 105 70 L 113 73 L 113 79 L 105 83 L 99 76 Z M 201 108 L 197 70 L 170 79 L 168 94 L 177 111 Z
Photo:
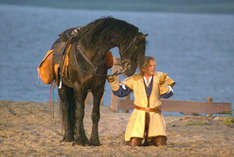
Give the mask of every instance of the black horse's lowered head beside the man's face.
M 137 67 L 143 63 L 147 35 L 138 32 L 128 45 L 120 47 L 121 67 L 126 76 L 133 75 Z

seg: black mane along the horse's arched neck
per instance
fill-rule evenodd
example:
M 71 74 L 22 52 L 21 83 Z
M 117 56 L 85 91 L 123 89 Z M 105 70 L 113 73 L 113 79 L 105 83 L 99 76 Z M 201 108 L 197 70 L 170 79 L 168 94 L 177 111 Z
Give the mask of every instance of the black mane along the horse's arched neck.
M 81 42 L 84 47 L 95 49 L 95 47 L 99 45 L 97 43 L 98 41 L 109 41 L 111 40 L 111 36 L 116 36 L 118 39 L 124 37 L 122 40 L 128 42 L 137 32 L 138 28 L 132 24 L 113 17 L 104 17 L 97 19 L 82 28 Z

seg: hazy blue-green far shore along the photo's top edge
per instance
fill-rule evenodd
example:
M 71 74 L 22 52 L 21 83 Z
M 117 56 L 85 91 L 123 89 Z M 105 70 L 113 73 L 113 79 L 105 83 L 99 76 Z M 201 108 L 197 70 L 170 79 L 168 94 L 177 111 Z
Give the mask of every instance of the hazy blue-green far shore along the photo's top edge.
M 0 4 L 71 9 L 234 14 L 234 0 L 0 0 Z

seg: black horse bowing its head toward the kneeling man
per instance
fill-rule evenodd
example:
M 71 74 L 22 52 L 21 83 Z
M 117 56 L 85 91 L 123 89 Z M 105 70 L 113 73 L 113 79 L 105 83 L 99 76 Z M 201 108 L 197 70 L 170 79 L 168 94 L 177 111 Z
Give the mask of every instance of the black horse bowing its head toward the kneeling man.
M 146 36 L 136 26 L 113 17 L 100 18 L 86 26 L 71 28 L 60 34 L 52 49 L 60 56 L 56 59 L 55 55 L 55 63 L 60 67 L 56 83 L 59 86 L 64 128 L 62 141 L 73 142 L 73 145 L 100 145 L 98 122 L 108 69 L 106 53 L 111 48 L 118 47 L 122 73 L 131 76 L 143 62 Z M 68 63 L 65 63 L 64 56 L 68 58 Z M 84 101 L 88 91 L 93 94 L 89 140 L 83 124 Z

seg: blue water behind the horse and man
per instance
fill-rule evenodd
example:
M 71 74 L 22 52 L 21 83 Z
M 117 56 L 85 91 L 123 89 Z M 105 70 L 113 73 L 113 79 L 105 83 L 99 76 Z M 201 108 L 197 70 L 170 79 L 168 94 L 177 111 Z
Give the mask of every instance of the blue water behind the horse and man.
M 103 17 L 128 21 L 148 33 L 147 55 L 177 84 L 171 99 L 234 104 L 234 16 L 65 10 L 0 5 L 0 100 L 49 101 L 37 66 L 67 28 Z M 117 49 L 113 50 L 118 56 Z M 110 71 L 109 71 L 110 72 Z M 110 104 L 106 85 L 104 104 Z M 56 94 L 57 95 L 57 94 Z M 56 96 L 58 99 L 58 96 Z M 234 107 L 233 107 L 234 108 Z

